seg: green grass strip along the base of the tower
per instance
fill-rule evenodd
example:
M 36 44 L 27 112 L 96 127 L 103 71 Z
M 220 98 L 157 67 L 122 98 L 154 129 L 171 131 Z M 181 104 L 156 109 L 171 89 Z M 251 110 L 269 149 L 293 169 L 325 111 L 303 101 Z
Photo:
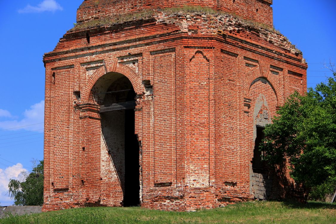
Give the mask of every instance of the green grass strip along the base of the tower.
M 247 202 L 198 212 L 164 212 L 133 208 L 90 207 L 8 217 L 0 223 L 336 223 L 336 205 L 309 202 Z

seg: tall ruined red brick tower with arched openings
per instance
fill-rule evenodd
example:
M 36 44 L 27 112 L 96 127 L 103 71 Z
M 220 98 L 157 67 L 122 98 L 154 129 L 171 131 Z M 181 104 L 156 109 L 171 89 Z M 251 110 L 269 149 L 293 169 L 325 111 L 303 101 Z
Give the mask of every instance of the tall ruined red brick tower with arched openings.
M 306 90 L 272 0 L 85 0 L 44 55 L 43 211 L 302 197 L 258 143 Z

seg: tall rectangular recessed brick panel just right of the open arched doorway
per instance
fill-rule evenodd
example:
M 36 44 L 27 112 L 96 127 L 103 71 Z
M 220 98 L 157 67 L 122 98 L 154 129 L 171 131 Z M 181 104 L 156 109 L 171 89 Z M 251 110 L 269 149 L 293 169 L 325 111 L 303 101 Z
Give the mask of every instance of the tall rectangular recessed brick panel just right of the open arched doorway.
M 153 57 L 154 181 L 172 184 L 176 181 L 175 52 Z M 164 113 L 160 108 L 166 108 Z

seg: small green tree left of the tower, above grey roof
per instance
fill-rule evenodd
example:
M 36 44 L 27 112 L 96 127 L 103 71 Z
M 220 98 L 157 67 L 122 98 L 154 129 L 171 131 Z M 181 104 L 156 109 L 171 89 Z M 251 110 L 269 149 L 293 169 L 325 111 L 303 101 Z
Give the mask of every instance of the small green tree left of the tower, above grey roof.
M 9 196 L 14 198 L 15 205 L 37 206 L 43 204 L 43 160 L 36 165 L 33 161 L 33 170 L 26 180 L 11 179 L 8 184 Z

